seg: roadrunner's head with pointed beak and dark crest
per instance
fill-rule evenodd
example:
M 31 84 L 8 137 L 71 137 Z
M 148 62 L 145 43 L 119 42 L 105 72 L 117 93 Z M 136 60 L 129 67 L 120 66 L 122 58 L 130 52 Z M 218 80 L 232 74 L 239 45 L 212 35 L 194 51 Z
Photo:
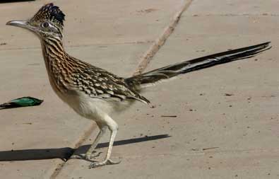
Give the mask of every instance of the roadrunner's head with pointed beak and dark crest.
M 62 39 L 65 14 L 54 4 L 46 4 L 27 21 L 8 21 L 6 25 L 25 28 L 38 35 L 41 39 L 55 37 Z

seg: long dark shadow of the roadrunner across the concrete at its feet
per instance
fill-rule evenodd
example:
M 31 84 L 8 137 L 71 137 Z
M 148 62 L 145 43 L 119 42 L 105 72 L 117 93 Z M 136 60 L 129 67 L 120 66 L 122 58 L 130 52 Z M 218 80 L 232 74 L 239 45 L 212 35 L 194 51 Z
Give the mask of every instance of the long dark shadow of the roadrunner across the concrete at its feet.
M 125 139 L 114 142 L 114 146 L 133 144 L 138 142 L 146 142 L 150 140 L 164 139 L 171 137 L 168 134 L 161 134 L 155 136 L 139 137 L 134 139 Z M 108 142 L 100 143 L 96 148 L 107 147 Z M 29 160 L 43 160 L 52 158 L 61 158 L 67 161 L 71 155 L 76 153 L 83 153 L 89 149 L 90 145 L 79 146 L 78 149 L 72 149 L 71 147 L 57 148 L 57 149 L 24 149 L 24 150 L 11 150 L 0 151 L 0 161 L 29 161 Z M 79 154 L 77 154 L 79 155 Z

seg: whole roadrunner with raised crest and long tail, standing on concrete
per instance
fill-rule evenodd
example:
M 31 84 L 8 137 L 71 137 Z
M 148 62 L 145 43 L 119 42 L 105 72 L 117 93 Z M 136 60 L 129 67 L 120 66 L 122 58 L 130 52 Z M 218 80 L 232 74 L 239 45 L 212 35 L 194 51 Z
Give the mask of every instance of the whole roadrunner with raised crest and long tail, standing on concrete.
M 172 64 L 129 78 L 121 78 L 105 69 L 71 57 L 65 52 L 62 43 L 64 17 L 64 13 L 58 6 L 46 4 L 28 21 L 9 21 L 6 24 L 28 29 L 39 37 L 49 82 L 54 92 L 79 115 L 94 120 L 100 128 L 90 149 L 85 156 L 82 156 L 92 162 L 90 168 L 120 162 L 110 159 L 118 130 L 117 122 L 110 115 L 112 112 L 129 107 L 136 100 L 150 103 L 147 98 L 141 96 L 142 88 L 189 71 L 254 57 L 259 52 L 271 48 L 270 42 L 265 42 Z M 110 131 L 110 139 L 105 160 L 93 161 L 91 155 L 106 129 Z

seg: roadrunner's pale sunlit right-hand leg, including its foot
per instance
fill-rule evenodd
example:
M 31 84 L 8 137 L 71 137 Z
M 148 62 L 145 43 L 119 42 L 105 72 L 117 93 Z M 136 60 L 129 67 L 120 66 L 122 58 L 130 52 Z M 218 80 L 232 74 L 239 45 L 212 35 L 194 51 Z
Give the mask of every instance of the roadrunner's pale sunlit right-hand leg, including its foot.
M 95 168 L 98 166 L 105 166 L 105 165 L 112 165 L 112 164 L 118 164 L 121 161 L 112 161 L 110 158 L 110 155 L 112 154 L 112 146 L 114 143 L 114 139 L 117 135 L 117 130 L 118 130 L 118 125 L 117 122 L 114 122 L 114 120 L 112 120 L 111 117 L 109 117 L 108 115 L 105 117 L 105 123 L 107 125 L 107 127 L 109 127 L 110 130 L 110 139 L 109 139 L 109 147 L 107 149 L 107 155 L 105 157 L 104 161 L 100 161 L 100 162 L 93 162 L 90 164 L 89 168 Z

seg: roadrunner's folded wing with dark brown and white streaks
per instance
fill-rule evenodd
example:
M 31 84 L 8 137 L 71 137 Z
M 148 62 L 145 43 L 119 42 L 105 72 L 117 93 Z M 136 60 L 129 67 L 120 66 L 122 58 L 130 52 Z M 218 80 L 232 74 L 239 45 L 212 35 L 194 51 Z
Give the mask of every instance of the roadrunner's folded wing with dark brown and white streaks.
M 91 98 L 117 101 L 133 98 L 143 103 L 150 103 L 148 99 L 129 88 L 123 78 L 91 64 L 84 63 L 83 68 L 71 75 L 74 86 Z

